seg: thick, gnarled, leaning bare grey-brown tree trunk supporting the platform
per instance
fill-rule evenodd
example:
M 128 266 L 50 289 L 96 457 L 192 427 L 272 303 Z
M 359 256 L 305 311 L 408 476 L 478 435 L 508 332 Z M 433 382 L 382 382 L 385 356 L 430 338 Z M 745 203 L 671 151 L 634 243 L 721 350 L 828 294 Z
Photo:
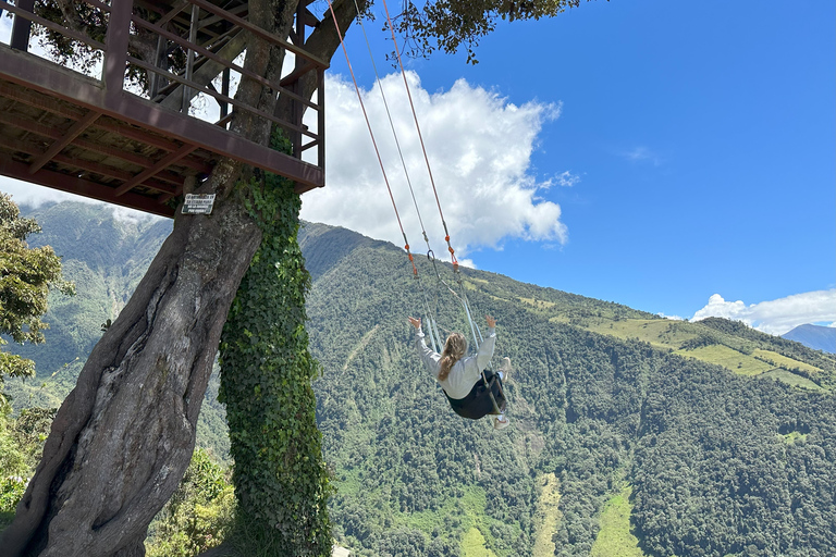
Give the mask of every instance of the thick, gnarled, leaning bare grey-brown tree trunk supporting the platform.
M 335 9 L 344 30 L 356 13 L 353 0 Z M 249 1 L 250 22 L 281 37 L 295 10 L 295 1 Z M 339 46 L 318 38 L 329 34 L 334 26 L 327 21 L 310 37 L 325 45 L 312 52 L 325 60 Z M 245 66 L 276 78 L 283 54 L 253 39 Z M 276 100 L 248 78 L 236 97 L 266 112 Z M 239 115 L 232 125 L 268 145 L 269 123 Z M 261 239 L 243 201 L 249 172 L 220 161 L 198 189 L 217 194 L 212 214 L 176 218 L 61 405 L 14 522 L 0 537 L 3 557 L 145 555 L 148 524 L 188 466 L 221 330 Z

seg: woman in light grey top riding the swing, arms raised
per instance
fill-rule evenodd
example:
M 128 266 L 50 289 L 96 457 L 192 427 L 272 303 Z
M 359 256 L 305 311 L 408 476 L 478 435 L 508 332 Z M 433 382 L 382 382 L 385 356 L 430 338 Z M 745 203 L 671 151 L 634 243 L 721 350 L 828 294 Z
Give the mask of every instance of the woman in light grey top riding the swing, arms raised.
M 494 414 L 494 429 L 503 430 L 508 426 L 508 419 L 505 417 L 502 380 L 507 380 L 511 360 L 508 358 L 503 360 L 499 373 L 492 370 L 484 371 L 491 362 L 493 346 L 496 343 L 496 320 L 491 315 L 485 315 L 485 319 L 488 337 L 479 347 L 479 351 L 467 358 L 465 358 L 467 341 L 462 333 L 452 333 L 439 354 L 427 346 L 423 331 L 421 331 L 421 320 L 409 318 L 409 323 L 415 327 L 415 347 L 421 361 L 441 384 L 453 410 L 471 420 Z M 482 371 L 488 385 L 482 379 Z

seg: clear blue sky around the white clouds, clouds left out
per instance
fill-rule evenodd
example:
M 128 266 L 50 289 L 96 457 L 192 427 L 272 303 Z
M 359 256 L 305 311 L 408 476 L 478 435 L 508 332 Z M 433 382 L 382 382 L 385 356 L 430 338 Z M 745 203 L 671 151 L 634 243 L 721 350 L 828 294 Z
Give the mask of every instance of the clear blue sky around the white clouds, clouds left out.
M 409 62 L 431 92 L 464 78 L 516 106 L 562 103 L 537 135 L 529 173 L 579 178 L 538 193 L 560 205 L 566 242 L 506 237 L 467 257 L 685 318 L 714 294 L 748 307 L 833 289 L 834 5 L 594 1 L 501 23 L 476 66 L 463 54 Z M 367 32 L 391 72 L 381 26 Z M 359 29 L 348 48 L 360 86 L 371 87 Z M 341 55 L 332 72 L 347 75 Z M 825 300 L 836 314 L 836 298 Z

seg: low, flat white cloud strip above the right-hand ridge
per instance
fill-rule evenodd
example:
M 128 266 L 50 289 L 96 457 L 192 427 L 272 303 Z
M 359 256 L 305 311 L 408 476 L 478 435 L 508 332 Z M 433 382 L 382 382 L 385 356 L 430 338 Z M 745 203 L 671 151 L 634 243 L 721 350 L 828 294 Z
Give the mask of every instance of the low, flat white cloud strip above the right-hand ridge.
M 782 335 L 804 323 L 825 323 L 834 326 L 836 288 L 795 294 L 749 306 L 740 300 L 727 301 L 720 294 L 714 294 L 709 298 L 709 304 L 693 314 L 692 321 L 709 317 L 742 321 L 773 335 Z

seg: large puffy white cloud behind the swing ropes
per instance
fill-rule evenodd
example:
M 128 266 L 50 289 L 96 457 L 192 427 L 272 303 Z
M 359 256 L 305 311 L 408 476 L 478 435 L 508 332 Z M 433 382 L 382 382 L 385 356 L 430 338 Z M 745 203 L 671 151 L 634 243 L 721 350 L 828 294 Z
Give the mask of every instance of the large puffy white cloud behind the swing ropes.
M 551 182 L 538 181 L 530 170 L 538 134 L 544 122 L 560 115 L 560 104 L 518 107 L 464 79 L 430 95 L 417 74 L 407 72 L 407 78 L 456 253 L 501 246 L 506 238 L 565 243 L 560 206 L 538 195 Z M 403 78 L 391 74 L 382 85 L 430 243 L 437 255 L 446 253 Z M 403 245 L 353 84 L 331 78 L 327 95 L 325 187 L 303 196 L 303 218 Z M 380 91 L 376 86 L 361 95 L 407 238 L 420 252 L 426 249 L 421 227 Z M 564 180 L 576 178 L 565 173 Z

